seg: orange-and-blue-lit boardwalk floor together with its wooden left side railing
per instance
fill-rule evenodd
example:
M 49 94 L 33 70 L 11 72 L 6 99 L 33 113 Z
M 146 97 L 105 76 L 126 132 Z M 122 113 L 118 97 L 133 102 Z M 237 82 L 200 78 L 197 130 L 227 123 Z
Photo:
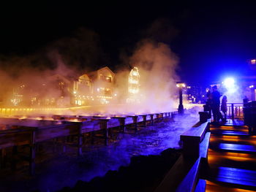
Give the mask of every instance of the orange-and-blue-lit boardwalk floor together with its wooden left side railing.
M 200 114 L 181 134 L 182 155 L 155 192 L 256 191 L 256 136 L 243 120 L 214 124 Z

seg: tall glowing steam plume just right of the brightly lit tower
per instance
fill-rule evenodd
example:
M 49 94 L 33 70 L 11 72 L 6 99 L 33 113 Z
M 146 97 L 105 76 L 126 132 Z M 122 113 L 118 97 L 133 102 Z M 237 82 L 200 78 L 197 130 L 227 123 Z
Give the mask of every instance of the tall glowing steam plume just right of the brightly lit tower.
M 144 112 L 173 110 L 178 58 L 170 47 L 145 39 L 131 57 L 140 70 L 140 91 Z

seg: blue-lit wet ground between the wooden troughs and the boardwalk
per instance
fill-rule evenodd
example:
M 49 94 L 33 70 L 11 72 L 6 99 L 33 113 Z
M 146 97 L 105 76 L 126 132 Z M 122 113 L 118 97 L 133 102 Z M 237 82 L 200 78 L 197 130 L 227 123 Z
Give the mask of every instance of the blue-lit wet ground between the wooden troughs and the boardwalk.
M 103 176 L 108 170 L 128 166 L 135 155 L 159 155 L 167 148 L 179 148 L 179 136 L 198 121 L 198 117 L 165 118 L 154 126 L 140 128 L 138 134 L 118 134 L 117 138 L 105 146 L 85 145 L 83 155 L 76 155 L 76 148 L 69 147 L 67 153 L 50 153 L 51 146 L 45 144 L 37 155 L 36 175 L 28 175 L 28 166 L 20 166 L 18 171 L 1 172 L 0 191 L 58 191 L 65 186 L 72 187 L 78 180 L 89 181 Z

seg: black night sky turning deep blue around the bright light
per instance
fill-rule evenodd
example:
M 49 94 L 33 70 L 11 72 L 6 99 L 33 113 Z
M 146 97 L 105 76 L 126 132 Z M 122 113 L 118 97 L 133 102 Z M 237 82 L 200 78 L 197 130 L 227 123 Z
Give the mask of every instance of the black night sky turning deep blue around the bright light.
M 38 1 L 2 4 L 0 54 L 29 55 L 80 27 L 99 34 L 111 64 L 132 53 L 140 39 L 165 42 L 180 59 L 187 82 L 243 74 L 256 57 L 256 3 L 252 1 Z M 164 26 L 148 32 L 156 20 Z M 150 31 L 150 30 L 149 30 Z

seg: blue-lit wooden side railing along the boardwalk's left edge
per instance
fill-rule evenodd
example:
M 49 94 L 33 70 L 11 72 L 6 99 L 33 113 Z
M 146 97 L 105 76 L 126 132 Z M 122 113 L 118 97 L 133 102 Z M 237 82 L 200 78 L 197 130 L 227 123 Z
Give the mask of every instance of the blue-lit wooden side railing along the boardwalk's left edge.
M 183 153 L 155 192 L 194 192 L 203 191 L 205 188 L 206 183 L 200 180 L 200 173 L 206 169 L 208 164 L 210 132 L 208 132 L 209 120 L 205 121 L 204 117 L 200 120 L 195 126 L 181 134 Z

